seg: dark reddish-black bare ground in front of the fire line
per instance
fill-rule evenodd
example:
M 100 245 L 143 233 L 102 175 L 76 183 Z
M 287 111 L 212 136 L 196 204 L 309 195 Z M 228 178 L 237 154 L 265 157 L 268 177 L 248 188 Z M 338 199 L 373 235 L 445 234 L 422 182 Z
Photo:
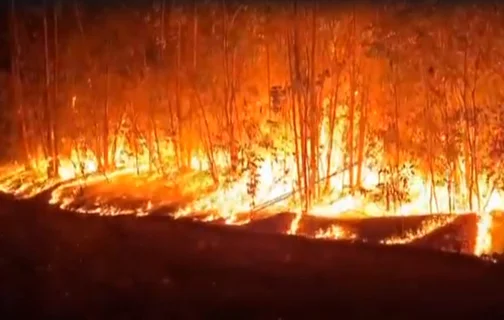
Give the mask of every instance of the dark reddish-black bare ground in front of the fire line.
M 0 198 L 3 319 L 502 318 L 474 257 Z

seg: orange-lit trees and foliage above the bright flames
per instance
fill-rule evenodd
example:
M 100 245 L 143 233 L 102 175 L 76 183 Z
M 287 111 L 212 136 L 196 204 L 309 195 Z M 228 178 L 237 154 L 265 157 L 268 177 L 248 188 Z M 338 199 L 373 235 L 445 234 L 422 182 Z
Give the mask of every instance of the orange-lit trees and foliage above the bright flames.
M 295 12 L 274 4 L 157 1 L 97 10 L 70 1 L 55 16 L 53 8 L 34 8 L 16 8 L 10 22 L 22 99 L 3 115 L 16 131 L 12 145 L 26 144 L 25 153 L 47 149 L 43 137 L 53 130 L 61 153 L 79 145 L 104 154 L 103 142 L 112 145 L 127 119 L 131 152 L 159 149 L 153 132 L 176 144 L 179 165 L 195 149 L 209 158 L 228 151 L 241 157 L 254 194 L 262 160 L 250 149 L 295 154 L 293 142 L 316 140 L 325 112 L 334 115 L 333 127 L 343 124 L 337 143 L 349 158 L 363 154 L 384 168 L 381 198 L 407 201 L 411 173 L 401 166 L 410 162 L 436 184 L 454 181 L 460 158 L 476 172 L 471 179 L 503 180 L 502 6 L 353 12 L 307 5 Z M 54 129 L 43 108 L 44 58 L 58 71 L 49 77 L 57 89 Z M 322 112 L 325 98 L 333 99 L 330 112 Z M 12 112 L 21 105 L 23 113 Z

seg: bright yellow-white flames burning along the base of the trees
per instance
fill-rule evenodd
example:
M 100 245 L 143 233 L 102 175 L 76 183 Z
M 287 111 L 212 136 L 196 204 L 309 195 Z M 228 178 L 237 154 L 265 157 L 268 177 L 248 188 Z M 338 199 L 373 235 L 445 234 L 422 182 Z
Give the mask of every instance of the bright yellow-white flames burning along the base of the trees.
M 342 109 L 342 108 L 341 108 Z M 266 136 L 274 136 L 276 133 L 263 125 L 261 133 Z M 302 189 L 299 188 L 296 158 L 293 155 L 292 145 L 284 141 L 273 143 L 284 147 L 286 151 L 275 154 L 267 148 L 257 147 L 254 152 L 258 161 L 250 163 L 252 169 L 244 170 L 237 174 L 234 179 L 229 179 L 229 154 L 222 150 L 216 150 L 213 155 L 214 167 L 218 172 L 218 183 L 213 191 L 209 177 L 195 178 L 191 180 L 177 180 L 178 173 L 173 169 L 163 174 L 155 174 L 162 168 L 152 168 L 152 152 L 140 150 L 136 155 L 129 152 L 127 139 L 119 136 L 116 141 L 115 151 L 110 153 L 113 165 L 107 170 L 101 170 L 98 157 L 89 149 L 73 148 L 70 156 L 59 159 L 58 176 L 48 178 L 46 168 L 48 161 L 38 161 L 31 165 L 31 170 L 12 165 L 6 167 L 0 179 L 0 190 L 12 193 L 21 198 L 32 197 L 44 190 L 53 189 L 49 200 L 50 204 L 58 205 L 65 210 L 74 210 L 80 213 L 93 213 L 101 215 L 136 214 L 146 215 L 151 210 L 161 207 L 163 201 L 144 199 L 135 208 L 124 209 L 119 206 L 106 204 L 96 200 L 93 206 L 82 208 L 75 207 L 80 197 L 80 192 L 86 187 L 103 184 L 107 181 L 119 179 L 124 176 L 137 176 L 138 179 L 160 180 L 169 175 L 171 180 L 178 181 L 175 184 L 186 185 L 187 193 L 198 194 L 194 201 L 187 203 L 185 207 L 175 212 L 175 218 L 192 217 L 202 221 L 222 220 L 226 224 L 246 224 L 252 220 L 269 216 L 278 212 L 295 213 L 286 233 L 296 235 L 305 215 L 344 218 L 344 217 L 380 217 L 380 216 L 409 216 L 426 213 L 451 213 L 440 218 L 425 221 L 421 228 L 408 232 L 402 237 L 385 239 L 384 244 L 406 244 L 413 242 L 427 234 L 442 228 L 453 222 L 457 213 L 470 211 L 467 206 L 468 194 L 460 191 L 450 194 L 446 187 L 433 185 L 422 175 L 412 172 L 406 173 L 409 183 L 410 199 L 395 201 L 393 205 L 384 204 L 383 201 L 375 201 L 369 193 L 377 192 L 383 187 L 383 177 L 377 168 L 377 163 L 382 162 L 380 156 L 367 156 L 363 159 L 360 168 L 362 190 L 350 191 L 348 185 L 350 170 L 354 176 L 359 168 L 357 165 L 350 166 L 346 161 L 344 140 L 344 126 L 338 125 L 334 129 L 333 136 L 329 134 L 329 120 L 324 116 L 320 129 L 320 148 L 318 156 L 319 180 L 316 185 L 320 186 L 317 198 L 307 207 L 301 197 Z M 274 139 L 273 139 L 274 140 Z M 287 139 L 289 141 L 289 139 Z M 293 141 L 290 139 L 290 141 Z M 332 145 L 330 143 L 332 141 Z M 292 144 L 292 143 L 291 143 Z M 140 143 L 141 145 L 141 143 Z M 111 150 L 113 150 L 111 148 Z M 162 152 L 156 156 L 173 158 L 174 149 L 170 143 L 163 145 Z M 158 159 L 159 160 L 159 159 Z M 155 161 L 154 161 L 155 163 Z M 208 172 L 212 164 L 204 152 L 195 152 L 189 161 L 192 172 Z M 245 165 L 244 165 L 245 166 Z M 411 164 L 413 166 L 413 164 Z M 172 166 L 173 168 L 175 166 Z M 112 169 L 113 168 L 113 169 Z M 157 170 L 156 170 L 157 169 Z M 164 170 L 164 169 L 163 169 Z M 329 173 L 329 176 L 327 176 Z M 322 187 L 323 186 L 323 187 Z M 461 188 L 463 189 L 463 188 Z M 504 208 L 501 192 L 490 188 L 483 179 L 479 181 L 480 196 L 473 195 L 473 203 L 479 204 L 477 239 L 474 249 L 476 255 L 491 251 L 490 230 L 492 215 L 495 209 Z M 338 225 L 333 225 L 327 230 L 319 230 L 316 238 L 332 239 L 355 239 L 357 236 Z

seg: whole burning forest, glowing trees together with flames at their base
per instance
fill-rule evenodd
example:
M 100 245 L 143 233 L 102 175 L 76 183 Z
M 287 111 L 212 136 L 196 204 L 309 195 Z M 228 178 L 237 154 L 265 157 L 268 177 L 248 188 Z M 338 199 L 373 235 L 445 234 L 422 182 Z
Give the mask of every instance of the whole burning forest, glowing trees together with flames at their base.
M 2 192 L 383 244 L 470 224 L 459 251 L 504 247 L 504 7 L 147 3 L 10 1 Z

